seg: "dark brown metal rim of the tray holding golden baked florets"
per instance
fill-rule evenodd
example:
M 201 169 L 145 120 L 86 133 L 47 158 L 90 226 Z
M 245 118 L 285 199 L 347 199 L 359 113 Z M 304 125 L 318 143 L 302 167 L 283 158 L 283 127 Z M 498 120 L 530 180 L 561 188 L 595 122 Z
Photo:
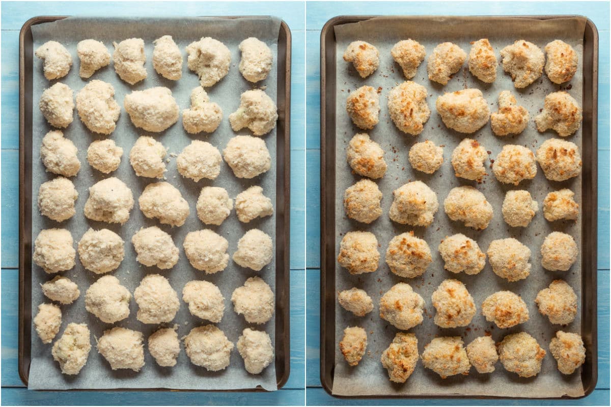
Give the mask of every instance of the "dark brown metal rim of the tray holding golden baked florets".
M 597 317 L 598 315 L 596 314 L 596 309 L 598 306 L 598 298 L 597 298 L 597 294 L 595 292 L 595 295 L 590 295 L 590 301 L 586 301 L 587 296 L 584 295 L 584 293 L 586 292 L 585 290 L 582 289 L 582 314 L 588 315 L 590 317 L 591 320 L 591 349 L 587 349 L 586 350 L 586 357 L 588 356 L 588 353 L 591 353 L 591 380 L 590 383 L 588 383 L 588 386 L 585 387 L 584 389 L 584 395 L 582 396 L 578 396 L 578 397 L 571 397 L 568 395 L 564 395 L 562 397 L 547 397 L 547 398 L 538 398 L 538 397 L 500 397 L 500 396 L 489 396 L 489 395 L 461 395 L 461 394 L 424 394 L 424 395 L 365 395 L 365 396 L 348 396 L 348 395 L 335 395 L 332 393 L 332 387 L 333 387 L 333 376 L 331 375 L 330 377 L 326 376 L 326 351 L 327 351 L 327 344 L 326 344 L 326 330 L 327 328 L 329 328 L 329 324 L 331 323 L 333 326 L 333 331 L 335 330 L 335 315 L 333 314 L 332 317 L 330 317 L 329 319 L 326 318 L 326 314 L 324 312 L 324 309 L 327 307 L 329 307 L 330 304 L 328 304 L 326 301 L 326 279 L 330 277 L 327 277 L 327 256 L 326 256 L 326 247 L 328 245 L 327 239 L 326 239 L 326 230 L 327 230 L 327 206 L 330 207 L 334 207 L 335 205 L 335 191 L 332 191 L 332 196 L 330 198 L 327 198 L 327 189 L 326 189 L 326 180 L 327 180 L 327 176 L 326 176 L 326 161 L 327 161 L 327 151 L 326 151 L 326 140 L 327 140 L 327 132 L 326 132 L 326 75 L 327 75 L 327 69 L 326 69 L 326 37 L 328 35 L 334 35 L 333 29 L 336 25 L 338 24 L 345 24 L 345 23 L 356 23 L 359 21 L 365 21 L 365 20 L 370 20 L 371 18 L 376 18 L 382 15 L 339 15 L 339 16 L 335 16 L 332 17 L 331 19 L 329 19 L 323 26 L 323 29 L 321 30 L 321 34 L 320 34 L 320 109 L 321 109 L 321 115 L 320 115 L 320 148 L 321 148 L 321 159 L 320 159 L 320 182 L 321 182 L 321 188 L 320 188 L 320 208 L 321 208 L 321 216 L 320 216 L 320 226 L 321 226 L 321 245 L 320 245 L 320 382 L 321 385 L 324 388 L 324 391 L 327 392 L 327 394 L 331 395 L 331 397 L 335 397 L 335 398 L 345 398 L 345 399 L 358 399 L 358 398 L 364 398 L 364 399 L 375 399 L 375 398 L 424 398 L 424 399 L 428 399 L 428 398 L 445 398 L 445 399 L 458 399 L 458 398 L 462 398 L 462 399 L 510 399 L 510 400 L 562 400 L 562 399 L 569 399 L 569 400 L 577 400 L 579 398 L 584 398 L 587 397 L 588 395 L 591 394 L 591 392 L 594 391 L 594 389 L 596 388 L 596 383 L 598 382 L 598 325 L 597 325 Z M 399 15 L 397 15 L 398 17 L 401 17 Z M 464 17 L 464 16 L 458 16 L 458 15 L 405 15 L 405 17 L 409 17 L 409 18 L 460 18 L 460 17 Z M 589 165 L 590 166 L 590 176 L 589 177 L 585 177 L 584 175 L 584 171 L 582 171 L 582 181 L 585 182 L 585 184 L 587 184 L 588 182 L 591 182 L 591 185 L 593 186 L 590 189 L 590 196 L 585 196 L 585 198 L 589 198 L 588 201 L 590 201 L 591 203 L 596 204 L 598 202 L 598 28 L 596 27 L 596 24 L 593 23 L 593 21 L 590 20 L 590 18 L 587 18 L 586 16 L 582 16 L 582 15 L 490 15 L 490 16 L 483 16 L 483 15 L 476 15 L 476 16 L 472 16 L 472 17 L 476 17 L 476 18 L 497 18 L 497 17 L 503 17 L 503 18 L 532 18 L 532 19 L 536 19 L 536 20 L 551 20 L 551 19 L 557 19 L 557 18 L 584 18 L 586 20 L 586 30 L 590 29 L 591 30 L 591 41 L 593 43 L 593 52 L 592 52 L 592 71 L 588 71 L 588 74 L 591 73 L 591 89 L 587 89 L 586 87 L 584 87 L 584 93 L 591 91 L 591 101 L 592 101 L 592 113 L 591 113 L 591 133 L 593 135 L 596 135 L 596 137 L 592 137 L 591 140 L 591 144 L 592 144 L 592 148 L 595 151 L 596 154 L 596 160 L 588 160 L 588 162 L 585 163 L 585 165 Z M 584 37 L 585 35 L 587 35 L 586 33 L 584 33 Z M 585 71 L 584 71 L 584 76 L 585 76 Z M 590 99 L 590 98 L 588 98 Z M 332 115 L 333 116 L 333 115 Z M 584 120 L 585 122 L 585 120 Z M 334 134 L 334 131 L 332 131 Z M 334 157 L 335 156 L 335 151 L 333 151 L 331 153 L 331 155 Z M 585 166 L 584 165 L 584 166 Z M 334 170 L 331 171 L 332 173 L 334 173 Z M 582 190 L 584 190 L 585 187 L 584 185 L 582 185 Z M 584 198 L 582 198 L 582 207 L 584 207 L 583 205 L 583 201 Z M 333 222 L 333 228 L 335 228 L 335 214 L 334 211 L 330 211 L 330 215 L 331 218 L 333 218 L 334 222 Z M 589 224 L 587 224 L 587 220 L 590 220 Z M 590 216 L 588 217 L 588 219 L 586 219 L 586 217 L 584 217 L 583 212 L 582 212 L 582 228 L 586 228 L 587 230 L 590 232 L 590 234 L 592 234 L 594 237 L 594 239 L 596 240 L 596 242 L 598 242 L 598 211 L 591 211 L 590 212 Z M 588 262 L 593 262 L 593 266 L 594 269 L 590 270 L 590 278 L 589 278 L 589 283 L 591 284 L 591 287 L 596 287 L 596 274 L 597 274 L 597 269 L 596 269 L 596 251 L 597 251 L 597 246 L 596 245 L 584 245 L 584 237 L 582 236 L 582 264 L 585 261 Z M 331 248 L 331 253 L 334 253 L 335 255 L 335 242 L 331 242 L 332 244 L 332 248 Z M 588 253 L 586 253 L 586 251 L 589 252 L 589 256 L 587 255 Z M 334 258 L 334 256 L 332 256 Z M 335 263 L 334 259 L 333 262 Z M 583 270 L 585 270 L 585 268 L 582 268 L 582 288 L 585 284 L 585 281 L 588 279 L 588 273 L 584 273 Z M 335 265 L 333 267 L 332 270 L 333 276 L 335 276 Z M 332 301 L 332 306 L 333 309 L 335 307 L 335 279 L 333 278 L 333 301 Z M 588 313 L 586 311 L 586 308 L 584 305 L 589 305 L 588 309 L 593 309 L 594 312 L 590 312 Z M 331 322 L 327 322 L 328 320 L 331 320 Z M 586 323 L 587 325 L 587 323 Z M 583 334 L 583 327 L 582 327 L 582 334 Z M 332 349 L 335 348 L 335 340 L 334 340 L 334 344 L 332 345 Z M 333 353 L 334 355 L 334 353 Z M 588 359 L 588 358 L 587 358 Z M 586 359 L 586 360 L 587 360 Z M 331 371 L 334 369 L 333 368 L 333 364 L 334 364 L 334 357 L 333 357 L 333 361 L 331 362 Z M 584 370 L 582 369 L 582 375 L 583 375 Z

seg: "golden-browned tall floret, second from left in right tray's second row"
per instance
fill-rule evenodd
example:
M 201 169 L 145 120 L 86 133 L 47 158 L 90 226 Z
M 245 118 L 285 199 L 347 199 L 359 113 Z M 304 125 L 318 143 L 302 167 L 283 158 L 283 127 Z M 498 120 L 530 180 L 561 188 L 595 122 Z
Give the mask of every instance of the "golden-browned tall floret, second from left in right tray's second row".
M 431 109 L 426 104 L 426 88 L 412 81 L 393 87 L 388 93 L 388 112 L 400 131 L 419 135 L 431 117 Z

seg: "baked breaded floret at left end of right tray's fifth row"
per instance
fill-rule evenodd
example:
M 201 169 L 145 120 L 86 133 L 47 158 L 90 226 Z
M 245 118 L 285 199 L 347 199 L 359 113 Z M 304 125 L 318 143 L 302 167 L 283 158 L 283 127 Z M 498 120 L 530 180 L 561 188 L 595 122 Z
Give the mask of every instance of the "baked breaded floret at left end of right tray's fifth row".
M 371 232 L 347 232 L 342 237 L 337 262 L 352 275 L 378 270 L 378 239 Z

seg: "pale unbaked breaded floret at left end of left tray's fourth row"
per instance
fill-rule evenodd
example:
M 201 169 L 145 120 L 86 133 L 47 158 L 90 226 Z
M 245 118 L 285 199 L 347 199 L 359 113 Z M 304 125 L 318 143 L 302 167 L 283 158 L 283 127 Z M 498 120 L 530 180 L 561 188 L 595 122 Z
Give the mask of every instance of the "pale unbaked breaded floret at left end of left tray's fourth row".
M 76 214 L 78 198 L 75 185 L 68 178 L 57 177 L 38 187 L 38 210 L 40 214 L 56 222 L 64 222 Z

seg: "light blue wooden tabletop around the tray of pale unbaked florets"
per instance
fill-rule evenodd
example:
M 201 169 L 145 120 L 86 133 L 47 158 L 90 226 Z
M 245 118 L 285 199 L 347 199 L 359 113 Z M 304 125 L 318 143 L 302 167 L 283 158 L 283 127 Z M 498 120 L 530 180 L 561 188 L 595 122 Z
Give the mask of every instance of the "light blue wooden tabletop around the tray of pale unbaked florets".
M 305 284 L 305 132 L 303 3 L 2 2 L 2 404 L 4 405 L 303 405 Z M 293 35 L 291 84 L 291 374 L 277 392 L 39 392 L 17 373 L 19 31 L 37 15 L 274 15 Z

